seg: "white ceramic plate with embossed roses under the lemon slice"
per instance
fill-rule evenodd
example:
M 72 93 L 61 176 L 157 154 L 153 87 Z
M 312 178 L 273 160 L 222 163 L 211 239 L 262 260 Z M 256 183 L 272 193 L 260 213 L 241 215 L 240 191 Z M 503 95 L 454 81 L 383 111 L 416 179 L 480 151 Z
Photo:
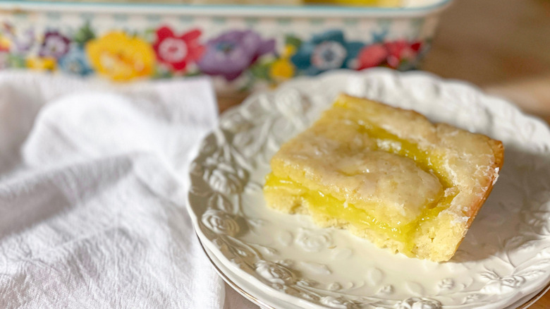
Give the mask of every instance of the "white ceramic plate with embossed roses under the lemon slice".
M 499 181 L 450 262 L 393 255 L 264 205 L 272 154 L 340 92 L 503 141 Z M 292 80 L 226 112 L 191 164 L 189 211 L 232 280 L 274 307 L 505 308 L 550 279 L 549 175 L 549 128 L 512 104 L 426 73 L 341 71 Z

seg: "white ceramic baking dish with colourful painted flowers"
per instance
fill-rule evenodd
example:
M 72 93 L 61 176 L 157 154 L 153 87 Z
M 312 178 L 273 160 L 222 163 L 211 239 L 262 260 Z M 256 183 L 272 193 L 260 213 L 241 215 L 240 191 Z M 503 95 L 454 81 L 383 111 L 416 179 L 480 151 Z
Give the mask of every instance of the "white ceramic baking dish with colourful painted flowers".
M 401 8 L 0 0 L 0 68 L 116 81 L 212 75 L 218 90 L 337 68 L 416 68 L 451 0 Z

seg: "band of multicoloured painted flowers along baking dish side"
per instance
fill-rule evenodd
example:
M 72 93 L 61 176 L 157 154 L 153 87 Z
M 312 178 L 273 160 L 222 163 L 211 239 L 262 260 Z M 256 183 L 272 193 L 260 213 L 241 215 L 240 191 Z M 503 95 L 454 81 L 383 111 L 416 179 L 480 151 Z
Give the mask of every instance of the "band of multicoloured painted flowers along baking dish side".
M 169 25 L 142 32 L 97 33 L 90 23 L 80 28 L 16 28 L 0 25 L 0 69 L 30 68 L 110 80 L 212 75 L 232 82 L 243 75 L 245 88 L 256 81 L 280 83 L 298 75 L 317 75 L 337 68 L 361 70 L 386 66 L 415 68 L 429 47 L 427 40 L 346 40 L 343 30 L 326 30 L 307 39 L 263 37 L 254 30 L 224 30 L 206 37 L 200 28 L 176 31 Z M 280 47 L 281 50 L 278 50 Z

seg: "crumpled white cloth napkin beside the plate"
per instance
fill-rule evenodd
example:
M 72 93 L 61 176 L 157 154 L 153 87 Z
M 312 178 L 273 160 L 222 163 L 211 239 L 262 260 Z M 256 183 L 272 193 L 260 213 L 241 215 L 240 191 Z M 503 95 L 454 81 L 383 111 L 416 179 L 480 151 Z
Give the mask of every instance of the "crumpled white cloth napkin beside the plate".
M 185 210 L 216 115 L 205 79 L 0 72 L 0 308 L 250 308 Z

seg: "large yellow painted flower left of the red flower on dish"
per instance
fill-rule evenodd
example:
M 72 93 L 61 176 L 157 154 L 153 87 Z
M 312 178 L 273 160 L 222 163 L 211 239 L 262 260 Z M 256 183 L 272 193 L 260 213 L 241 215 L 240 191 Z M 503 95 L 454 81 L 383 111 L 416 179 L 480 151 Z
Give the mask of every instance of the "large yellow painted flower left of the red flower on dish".
M 86 53 L 92 67 L 113 80 L 130 80 L 153 73 L 152 47 L 124 32 L 109 32 L 88 42 Z

